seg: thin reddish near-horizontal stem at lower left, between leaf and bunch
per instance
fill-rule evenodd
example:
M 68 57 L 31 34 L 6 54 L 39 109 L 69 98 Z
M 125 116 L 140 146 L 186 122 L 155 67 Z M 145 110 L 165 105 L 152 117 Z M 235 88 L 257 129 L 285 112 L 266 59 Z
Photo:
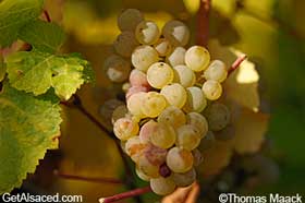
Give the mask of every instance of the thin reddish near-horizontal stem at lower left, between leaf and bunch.
M 53 174 L 60 178 L 72 179 L 72 180 L 83 180 L 83 181 L 90 181 L 90 182 L 107 182 L 107 183 L 114 183 L 114 184 L 122 184 L 123 181 L 115 179 L 115 178 L 108 178 L 108 177 L 83 177 L 77 175 L 69 175 L 60 172 L 59 170 L 54 170 Z

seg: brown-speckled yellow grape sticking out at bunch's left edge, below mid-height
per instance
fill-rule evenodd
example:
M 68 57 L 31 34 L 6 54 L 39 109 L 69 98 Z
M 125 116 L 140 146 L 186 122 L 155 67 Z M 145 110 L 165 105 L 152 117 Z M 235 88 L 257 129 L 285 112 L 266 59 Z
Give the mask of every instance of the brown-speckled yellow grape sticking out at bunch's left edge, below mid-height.
M 138 130 L 138 124 L 130 118 L 120 118 L 113 124 L 115 136 L 122 141 L 135 136 Z

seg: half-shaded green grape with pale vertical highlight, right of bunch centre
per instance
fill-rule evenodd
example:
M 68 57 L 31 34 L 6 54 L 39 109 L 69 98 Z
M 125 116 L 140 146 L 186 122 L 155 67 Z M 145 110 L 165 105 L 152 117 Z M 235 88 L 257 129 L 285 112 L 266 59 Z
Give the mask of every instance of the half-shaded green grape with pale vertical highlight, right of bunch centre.
M 207 99 L 203 91 L 197 86 L 186 88 L 187 99 L 183 107 L 186 112 L 196 111 L 202 112 L 207 106 Z

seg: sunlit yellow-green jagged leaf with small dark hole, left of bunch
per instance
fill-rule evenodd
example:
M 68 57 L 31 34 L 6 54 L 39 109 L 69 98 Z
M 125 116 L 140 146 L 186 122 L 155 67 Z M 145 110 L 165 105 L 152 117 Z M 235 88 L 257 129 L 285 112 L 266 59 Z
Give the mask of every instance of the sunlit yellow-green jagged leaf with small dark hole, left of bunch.
M 89 77 L 86 76 L 89 69 L 87 61 L 38 51 L 20 51 L 9 56 L 7 68 L 13 87 L 36 96 L 53 87 L 56 94 L 66 100 Z

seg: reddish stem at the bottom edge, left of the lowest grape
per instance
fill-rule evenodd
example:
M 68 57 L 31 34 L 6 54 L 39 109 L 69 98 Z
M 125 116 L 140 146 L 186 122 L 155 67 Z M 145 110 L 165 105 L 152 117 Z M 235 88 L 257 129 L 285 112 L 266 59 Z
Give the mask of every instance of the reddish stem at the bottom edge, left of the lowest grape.
M 101 199 L 99 199 L 99 202 L 100 203 L 111 203 L 111 202 L 124 200 L 124 199 L 132 198 L 132 196 L 138 196 L 141 194 L 145 194 L 148 192 L 151 192 L 150 187 L 138 188 L 138 189 L 130 190 L 127 192 L 119 193 L 119 194 L 115 194 L 112 196 L 101 198 Z

